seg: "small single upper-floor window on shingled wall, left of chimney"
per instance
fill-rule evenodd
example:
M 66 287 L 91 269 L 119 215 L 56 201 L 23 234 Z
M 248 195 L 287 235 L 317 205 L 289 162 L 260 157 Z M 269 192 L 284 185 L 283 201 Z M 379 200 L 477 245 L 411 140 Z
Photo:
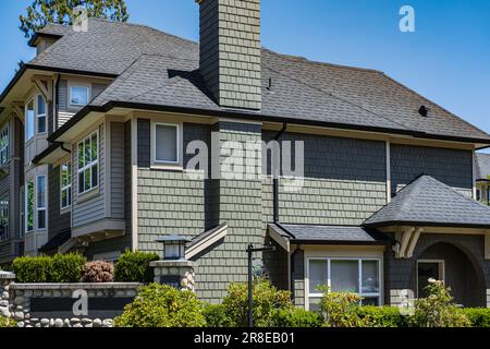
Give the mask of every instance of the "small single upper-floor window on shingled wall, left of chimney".
M 151 153 L 155 164 L 181 164 L 181 128 L 179 123 L 152 123 Z

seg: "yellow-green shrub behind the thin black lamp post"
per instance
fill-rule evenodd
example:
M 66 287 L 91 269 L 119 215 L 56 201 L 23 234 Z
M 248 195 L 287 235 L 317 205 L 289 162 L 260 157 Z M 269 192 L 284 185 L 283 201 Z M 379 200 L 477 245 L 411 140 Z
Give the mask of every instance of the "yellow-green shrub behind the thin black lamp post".
M 254 325 L 268 327 L 277 310 L 292 308 L 289 291 L 278 290 L 269 280 L 257 278 L 253 282 Z M 223 299 L 230 325 L 245 327 L 248 322 L 248 285 L 247 282 L 231 284 Z

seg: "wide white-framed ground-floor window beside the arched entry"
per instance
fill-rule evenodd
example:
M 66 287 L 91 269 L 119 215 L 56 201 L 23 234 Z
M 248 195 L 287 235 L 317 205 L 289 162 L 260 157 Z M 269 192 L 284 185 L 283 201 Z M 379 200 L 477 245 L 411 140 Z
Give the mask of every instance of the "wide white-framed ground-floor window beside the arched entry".
M 318 310 L 323 291 L 348 291 L 359 294 L 363 305 L 381 304 L 381 260 L 311 257 L 307 258 L 308 306 Z

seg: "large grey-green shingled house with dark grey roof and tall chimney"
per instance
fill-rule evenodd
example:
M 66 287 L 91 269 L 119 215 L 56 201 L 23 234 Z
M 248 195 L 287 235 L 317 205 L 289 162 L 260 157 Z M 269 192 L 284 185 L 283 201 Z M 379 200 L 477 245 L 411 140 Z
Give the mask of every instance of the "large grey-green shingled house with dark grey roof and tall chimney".
M 180 234 L 213 302 L 252 243 L 275 246 L 255 263 L 306 309 L 319 285 L 399 304 L 430 277 L 490 305 L 490 209 L 473 200 L 490 135 L 379 71 L 262 48 L 259 0 L 198 5 L 198 44 L 95 19 L 34 36 L 0 97 L 25 134 L 7 241 L 113 261 Z

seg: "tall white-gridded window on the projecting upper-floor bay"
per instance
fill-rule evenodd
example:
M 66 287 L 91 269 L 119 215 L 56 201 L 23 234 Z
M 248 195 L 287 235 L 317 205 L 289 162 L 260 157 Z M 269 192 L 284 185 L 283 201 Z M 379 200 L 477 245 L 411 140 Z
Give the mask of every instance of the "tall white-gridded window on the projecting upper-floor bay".
M 88 192 L 99 184 L 98 132 L 78 143 L 78 194 Z

